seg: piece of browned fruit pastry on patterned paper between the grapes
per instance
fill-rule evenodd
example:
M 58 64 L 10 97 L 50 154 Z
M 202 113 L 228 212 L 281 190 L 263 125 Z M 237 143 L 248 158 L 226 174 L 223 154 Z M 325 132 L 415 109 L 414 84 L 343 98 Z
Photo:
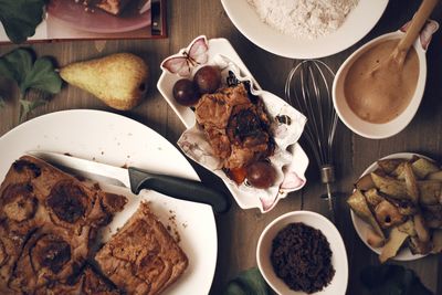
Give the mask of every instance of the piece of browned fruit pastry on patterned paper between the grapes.
M 196 107 L 197 122 L 224 169 L 239 169 L 273 154 L 264 104 L 249 96 L 241 83 L 204 94 Z

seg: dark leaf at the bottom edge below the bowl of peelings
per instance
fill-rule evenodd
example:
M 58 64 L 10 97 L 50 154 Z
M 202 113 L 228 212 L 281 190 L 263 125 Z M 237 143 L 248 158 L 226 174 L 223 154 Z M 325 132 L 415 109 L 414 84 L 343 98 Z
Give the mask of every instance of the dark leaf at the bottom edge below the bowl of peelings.
M 376 295 L 431 295 L 413 271 L 400 265 L 367 266 L 360 280 L 370 294 Z

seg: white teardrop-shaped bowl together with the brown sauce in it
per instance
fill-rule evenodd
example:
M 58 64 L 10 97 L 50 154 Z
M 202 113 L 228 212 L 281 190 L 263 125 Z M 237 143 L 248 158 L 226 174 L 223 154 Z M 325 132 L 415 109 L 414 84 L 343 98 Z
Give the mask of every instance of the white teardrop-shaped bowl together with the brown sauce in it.
M 397 31 L 373 39 L 354 52 L 336 74 L 336 113 L 362 137 L 380 139 L 400 133 L 422 101 L 427 60 L 421 40 L 418 38 L 400 67 L 391 62 L 390 55 L 403 34 Z

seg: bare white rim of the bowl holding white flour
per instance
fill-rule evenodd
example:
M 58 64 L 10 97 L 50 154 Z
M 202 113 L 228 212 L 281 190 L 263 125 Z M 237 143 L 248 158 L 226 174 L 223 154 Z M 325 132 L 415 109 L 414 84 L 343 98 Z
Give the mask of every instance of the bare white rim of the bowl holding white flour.
M 318 59 L 348 49 L 375 27 L 388 4 L 388 0 L 359 0 L 334 33 L 318 39 L 294 39 L 262 22 L 246 0 L 221 2 L 230 20 L 250 41 L 290 59 Z

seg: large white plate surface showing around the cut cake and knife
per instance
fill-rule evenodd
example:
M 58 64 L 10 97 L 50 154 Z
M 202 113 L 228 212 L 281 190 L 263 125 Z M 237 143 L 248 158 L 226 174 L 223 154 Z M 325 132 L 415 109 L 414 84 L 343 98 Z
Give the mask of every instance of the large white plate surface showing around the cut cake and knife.
M 164 137 L 133 119 L 112 113 L 77 109 L 44 115 L 29 120 L 0 138 L 0 179 L 11 164 L 28 150 L 69 152 L 116 166 L 134 165 L 151 171 L 199 180 L 186 158 Z M 114 188 L 130 198 L 128 190 Z M 208 294 L 218 253 L 217 226 L 207 204 L 176 200 L 144 191 L 152 201 L 159 219 L 178 230 L 180 246 L 189 257 L 189 268 L 168 288 L 166 295 Z M 136 210 L 130 198 L 125 211 L 117 213 L 112 229 L 123 224 Z M 171 210 L 172 212 L 169 212 Z M 176 225 L 169 218 L 176 215 Z

